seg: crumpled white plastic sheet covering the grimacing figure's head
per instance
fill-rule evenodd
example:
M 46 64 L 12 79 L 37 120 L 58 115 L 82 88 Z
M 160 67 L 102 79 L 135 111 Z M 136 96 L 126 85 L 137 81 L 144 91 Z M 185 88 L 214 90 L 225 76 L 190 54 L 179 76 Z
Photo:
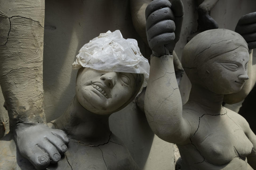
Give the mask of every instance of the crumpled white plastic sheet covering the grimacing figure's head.
M 119 30 L 101 33 L 90 40 L 79 50 L 72 65 L 74 69 L 89 67 L 109 72 L 144 74 L 142 87 L 147 86 L 149 79 L 149 62 L 139 51 L 137 41 L 124 39 Z

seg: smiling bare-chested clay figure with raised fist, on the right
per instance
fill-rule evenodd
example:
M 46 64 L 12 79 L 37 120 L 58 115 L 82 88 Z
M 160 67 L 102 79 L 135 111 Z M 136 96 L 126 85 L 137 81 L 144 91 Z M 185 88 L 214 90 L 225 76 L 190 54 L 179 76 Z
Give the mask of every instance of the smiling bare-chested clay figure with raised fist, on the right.
M 255 134 L 242 116 L 222 107 L 224 95 L 239 92 L 249 79 L 248 45 L 227 29 L 208 30 L 190 40 L 182 65 L 192 88 L 182 106 L 171 55 L 180 29 L 176 16 L 181 17 L 182 11 L 181 1 L 153 1 L 146 9 L 147 37 L 154 54 L 145 94 L 149 125 L 158 137 L 177 144 L 182 170 L 256 169 Z

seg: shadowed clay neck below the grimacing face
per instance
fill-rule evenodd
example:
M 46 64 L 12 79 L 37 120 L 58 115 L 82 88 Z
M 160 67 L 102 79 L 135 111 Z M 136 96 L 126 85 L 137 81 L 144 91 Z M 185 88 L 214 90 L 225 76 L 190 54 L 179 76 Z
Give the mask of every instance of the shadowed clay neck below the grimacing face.
M 109 140 L 109 115 L 99 115 L 87 111 L 75 96 L 66 112 L 59 117 L 54 125 L 64 130 L 71 138 L 84 143 L 101 145 Z

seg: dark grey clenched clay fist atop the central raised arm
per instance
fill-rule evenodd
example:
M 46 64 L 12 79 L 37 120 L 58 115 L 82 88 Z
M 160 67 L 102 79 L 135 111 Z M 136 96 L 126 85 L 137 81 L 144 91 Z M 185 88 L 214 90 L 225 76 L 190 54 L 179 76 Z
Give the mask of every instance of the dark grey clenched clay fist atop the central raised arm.
M 183 14 L 181 0 L 154 0 L 147 6 L 147 40 L 156 57 L 172 54 L 179 40 Z

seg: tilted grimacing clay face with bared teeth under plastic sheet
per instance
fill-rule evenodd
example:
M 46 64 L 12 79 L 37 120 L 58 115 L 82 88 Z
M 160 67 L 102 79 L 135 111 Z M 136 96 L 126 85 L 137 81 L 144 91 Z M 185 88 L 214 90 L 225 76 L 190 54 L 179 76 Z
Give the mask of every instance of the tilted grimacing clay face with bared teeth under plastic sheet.
M 77 99 L 92 113 L 113 113 L 134 95 L 136 75 L 83 68 L 76 80 Z

